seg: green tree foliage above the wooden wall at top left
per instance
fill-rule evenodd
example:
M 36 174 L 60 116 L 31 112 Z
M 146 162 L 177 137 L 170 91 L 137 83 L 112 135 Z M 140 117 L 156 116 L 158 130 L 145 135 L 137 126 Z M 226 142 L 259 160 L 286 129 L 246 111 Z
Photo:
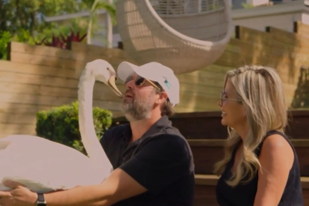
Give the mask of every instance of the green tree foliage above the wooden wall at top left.
M 16 41 L 34 44 L 45 36 L 51 40 L 52 35 L 67 35 L 74 32 L 86 33 L 87 24 L 81 25 L 80 19 L 70 19 L 70 25 L 56 22 L 46 22 L 46 17 L 72 14 L 83 11 L 94 16 L 97 10 L 106 9 L 115 22 L 115 6 L 107 0 L 1 0 L 0 1 L 0 31 L 7 31 Z M 95 24 L 95 23 L 93 23 Z M 34 41 L 33 41 L 34 40 Z

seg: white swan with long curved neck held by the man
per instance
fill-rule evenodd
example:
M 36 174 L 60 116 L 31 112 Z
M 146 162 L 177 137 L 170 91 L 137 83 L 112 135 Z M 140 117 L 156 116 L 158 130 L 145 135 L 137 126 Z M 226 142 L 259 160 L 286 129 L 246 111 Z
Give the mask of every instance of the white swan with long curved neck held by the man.
M 95 134 L 92 93 L 95 80 L 112 88 L 116 72 L 106 61 L 87 63 L 78 84 L 79 130 L 89 157 L 48 139 L 30 135 L 9 135 L 0 139 L 0 190 L 8 190 L 5 180 L 13 180 L 36 192 L 66 190 L 79 185 L 99 184 L 108 177 L 112 165 Z

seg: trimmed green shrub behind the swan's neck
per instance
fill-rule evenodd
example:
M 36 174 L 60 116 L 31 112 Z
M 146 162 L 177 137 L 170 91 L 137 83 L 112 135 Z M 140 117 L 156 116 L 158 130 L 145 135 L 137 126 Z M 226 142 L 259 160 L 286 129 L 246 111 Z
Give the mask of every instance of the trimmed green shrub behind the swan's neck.
M 36 134 L 38 136 L 75 148 L 86 154 L 78 126 L 78 101 L 71 105 L 54 107 L 50 111 L 39 111 L 36 114 L 36 119 Z M 99 139 L 112 124 L 112 112 L 94 107 L 93 122 Z

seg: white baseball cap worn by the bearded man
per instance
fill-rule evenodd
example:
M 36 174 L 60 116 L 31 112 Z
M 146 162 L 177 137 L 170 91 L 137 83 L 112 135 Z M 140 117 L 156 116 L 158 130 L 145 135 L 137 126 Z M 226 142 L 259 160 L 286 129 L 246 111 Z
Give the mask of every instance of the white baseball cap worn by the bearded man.
M 117 75 L 125 81 L 130 75 L 137 75 L 158 82 L 167 93 L 172 106 L 179 103 L 179 81 L 174 71 L 158 62 L 150 62 L 142 66 L 137 66 L 129 62 L 121 62 L 117 69 Z

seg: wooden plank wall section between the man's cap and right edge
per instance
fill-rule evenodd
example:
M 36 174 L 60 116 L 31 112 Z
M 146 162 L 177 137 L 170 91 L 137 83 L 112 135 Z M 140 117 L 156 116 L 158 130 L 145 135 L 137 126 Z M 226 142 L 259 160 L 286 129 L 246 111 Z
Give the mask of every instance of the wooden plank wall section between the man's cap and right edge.
M 192 111 L 218 110 L 219 92 L 226 71 L 244 64 L 259 64 L 276 68 L 283 82 L 286 105 L 290 107 L 297 89 L 301 67 L 309 66 L 309 25 L 296 22 L 297 33 L 277 28 L 265 28 L 265 32 L 237 26 L 236 38 L 232 38 L 226 50 L 214 64 L 189 74 L 179 75 L 182 91 L 190 90 L 189 105 Z M 307 35 L 307 36 L 306 36 Z M 194 76 L 194 77 L 193 77 Z M 187 84 L 192 79 L 195 84 Z M 202 86 L 202 88 L 201 88 Z M 183 93 L 181 103 L 183 107 Z M 207 101 L 205 101 L 207 100 Z M 189 108 L 189 107 L 188 107 Z

